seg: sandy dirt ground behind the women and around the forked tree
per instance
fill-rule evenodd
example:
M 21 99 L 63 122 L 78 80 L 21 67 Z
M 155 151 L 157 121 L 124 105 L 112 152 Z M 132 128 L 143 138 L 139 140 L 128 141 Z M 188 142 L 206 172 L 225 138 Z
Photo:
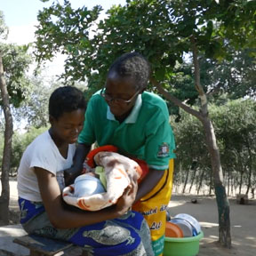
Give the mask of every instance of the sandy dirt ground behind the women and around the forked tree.
M 11 202 L 10 211 L 12 223 L 18 221 L 17 182 L 10 180 Z M 1 188 L 0 188 L 1 191 Z M 197 203 L 192 204 L 191 199 Z M 249 204 L 236 204 L 236 198 L 230 197 L 230 224 L 232 247 L 226 249 L 218 244 L 218 209 L 214 196 L 195 196 L 173 194 L 169 212 L 171 217 L 178 213 L 188 213 L 201 224 L 204 238 L 200 241 L 198 256 L 255 256 L 256 255 L 256 200 L 250 199 Z

